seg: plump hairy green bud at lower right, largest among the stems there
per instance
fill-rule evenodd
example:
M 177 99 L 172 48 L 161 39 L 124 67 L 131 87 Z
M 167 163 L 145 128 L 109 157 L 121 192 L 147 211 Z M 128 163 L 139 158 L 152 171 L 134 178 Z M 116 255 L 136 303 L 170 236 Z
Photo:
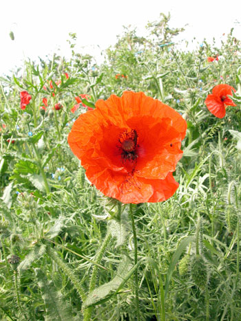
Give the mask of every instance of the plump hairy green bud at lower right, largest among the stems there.
M 193 256 L 191 260 L 191 278 L 197 287 L 205 289 L 207 285 L 207 266 L 200 254 Z

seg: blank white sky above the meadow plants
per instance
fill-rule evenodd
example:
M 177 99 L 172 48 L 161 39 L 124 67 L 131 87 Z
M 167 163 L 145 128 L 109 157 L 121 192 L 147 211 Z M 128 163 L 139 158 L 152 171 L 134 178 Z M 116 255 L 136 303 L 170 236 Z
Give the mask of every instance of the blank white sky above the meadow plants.
M 214 36 L 218 42 L 231 27 L 241 39 L 240 0 L 1 0 L 0 12 L 0 75 L 21 67 L 24 57 L 45 58 L 58 48 L 70 56 L 69 32 L 77 34 L 76 51 L 98 55 L 98 45 L 114 45 L 123 25 L 141 32 L 160 12 L 171 13 L 171 27 L 188 23 L 181 38 L 189 42 L 194 36 L 200 42 Z

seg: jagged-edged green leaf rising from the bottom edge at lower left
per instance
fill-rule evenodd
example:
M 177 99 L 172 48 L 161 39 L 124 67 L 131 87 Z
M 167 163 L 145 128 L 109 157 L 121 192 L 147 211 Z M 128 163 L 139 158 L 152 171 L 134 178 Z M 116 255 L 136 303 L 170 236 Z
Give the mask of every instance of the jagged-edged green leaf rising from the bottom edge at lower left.
M 81 320 L 81 316 L 74 316 L 70 303 L 57 291 L 52 280 L 48 280 L 41 269 L 34 269 L 34 272 L 45 303 L 45 321 Z

